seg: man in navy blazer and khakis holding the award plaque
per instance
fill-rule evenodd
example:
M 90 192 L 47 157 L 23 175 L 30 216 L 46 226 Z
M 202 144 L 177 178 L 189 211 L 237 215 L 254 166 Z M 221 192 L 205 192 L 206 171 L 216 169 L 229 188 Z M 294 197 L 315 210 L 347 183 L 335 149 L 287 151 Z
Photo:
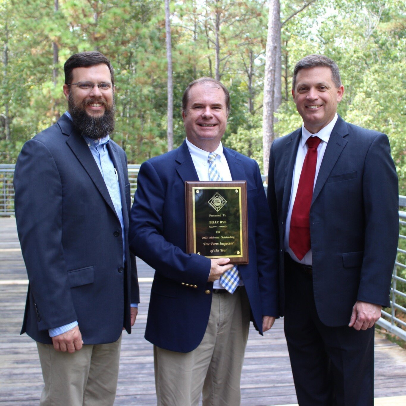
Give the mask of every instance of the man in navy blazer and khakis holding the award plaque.
M 202 391 L 204 405 L 240 404 L 250 317 L 262 334 L 278 315 L 277 246 L 259 167 L 221 144 L 229 99 L 212 78 L 191 82 L 182 103 L 186 140 L 138 174 L 130 247 L 155 269 L 145 338 L 154 344 L 158 405 L 197 405 Z M 246 181 L 248 264 L 188 253 L 186 181 Z M 213 191 L 208 242 L 222 235 L 225 201 Z M 227 238 L 213 246 L 232 245 Z

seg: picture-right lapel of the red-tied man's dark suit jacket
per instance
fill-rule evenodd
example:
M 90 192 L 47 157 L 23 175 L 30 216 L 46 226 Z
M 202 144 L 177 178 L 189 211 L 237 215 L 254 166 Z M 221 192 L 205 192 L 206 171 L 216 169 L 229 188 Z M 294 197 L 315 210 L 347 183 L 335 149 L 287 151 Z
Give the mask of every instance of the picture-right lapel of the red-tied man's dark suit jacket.
M 338 116 L 337 123 L 335 123 L 333 131 L 330 135 L 330 139 L 328 140 L 322 164 L 320 165 L 320 170 L 317 175 L 316 184 L 313 190 L 313 198 L 311 199 L 311 204 L 313 204 L 315 199 L 317 199 L 317 196 L 326 183 L 326 180 L 333 170 L 335 163 L 341 155 L 341 152 L 346 146 L 348 141 L 343 137 L 345 137 L 347 134 L 347 125 L 345 121 L 343 121 L 343 119 Z

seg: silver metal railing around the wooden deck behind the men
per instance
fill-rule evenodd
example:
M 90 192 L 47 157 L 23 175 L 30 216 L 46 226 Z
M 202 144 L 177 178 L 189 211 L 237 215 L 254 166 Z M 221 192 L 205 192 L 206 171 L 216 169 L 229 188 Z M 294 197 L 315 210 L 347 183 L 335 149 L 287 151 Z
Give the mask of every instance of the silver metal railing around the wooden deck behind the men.
M 14 215 L 14 166 L 14 164 L 0 164 L 0 217 Z M 134 196 L 137 188 L 140 166 L 128 165 L 131 196 Z M 262 175 L 262 180 L 266 181 L 265 175 Z M 406 207 L 405 196 L 399 196 L 399 206 L 402 209 Z M 382 310 L 382 317 L 377 324 L 406 341 L 406 212 L 400 210 L 399 218 L 401 233 L 392 276 L 391 308 Z

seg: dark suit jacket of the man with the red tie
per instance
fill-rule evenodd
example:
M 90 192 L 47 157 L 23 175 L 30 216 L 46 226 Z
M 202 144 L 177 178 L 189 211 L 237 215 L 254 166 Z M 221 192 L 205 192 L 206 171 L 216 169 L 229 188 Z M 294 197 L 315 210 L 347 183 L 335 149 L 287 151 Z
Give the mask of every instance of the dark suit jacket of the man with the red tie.
M 301 128 L 272 143 L 268 203 L 280 243 L 283 312 L 283 240 Z M 313 288 L 327 326 L 350 322 L 356 300 L 389 306 L 399 233 L 395 165 L 385 134 L 338 117 L 328 141 L 310 209 Z

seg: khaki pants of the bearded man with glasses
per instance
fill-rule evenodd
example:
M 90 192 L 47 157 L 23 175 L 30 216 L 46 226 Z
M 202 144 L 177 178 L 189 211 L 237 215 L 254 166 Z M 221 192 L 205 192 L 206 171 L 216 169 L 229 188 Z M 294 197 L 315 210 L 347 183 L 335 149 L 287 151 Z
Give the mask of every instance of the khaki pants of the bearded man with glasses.
M 119 375 L 121 336 L 115 343 L 84 345 L 72 354 L 37 342 L 45 387 L 40 406 L 110 406 Z

